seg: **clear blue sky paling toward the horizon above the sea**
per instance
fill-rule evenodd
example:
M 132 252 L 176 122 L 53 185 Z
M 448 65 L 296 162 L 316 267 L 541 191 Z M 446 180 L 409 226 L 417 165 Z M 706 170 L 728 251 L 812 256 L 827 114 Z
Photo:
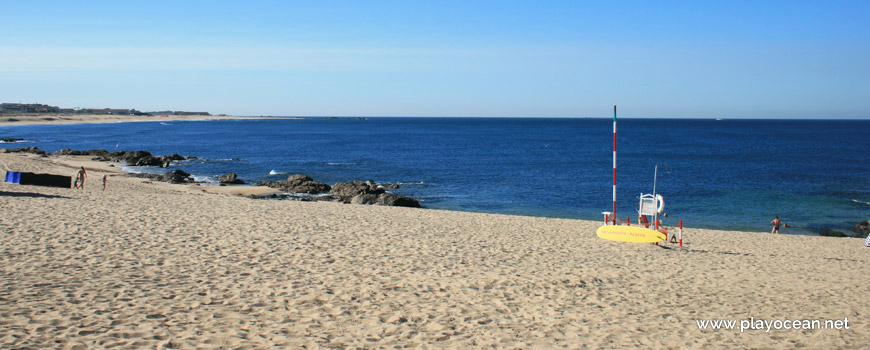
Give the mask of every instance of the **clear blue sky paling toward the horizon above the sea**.
M 0 102 L 870 118 L 870 1 L 0 0 Z

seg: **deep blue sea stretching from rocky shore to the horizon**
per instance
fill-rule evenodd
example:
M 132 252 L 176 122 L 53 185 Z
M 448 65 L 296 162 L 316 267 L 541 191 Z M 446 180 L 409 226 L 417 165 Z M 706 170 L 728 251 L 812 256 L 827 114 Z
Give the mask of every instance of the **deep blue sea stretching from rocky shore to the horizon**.
M 620 218 L 664 196 L 666 225 L 847 232 L 870 219 L 870 121 L 620 119 Z M 602 220 L 612 207 L 612 119 L 304 118 L 0 127 L 36 146 L 147 150 L 203 181 L 302 173 L 399 183 L 427 208 Z M 116 148 L 117 146 L 117 148 Z M 158 172 L 165 169 L 140 169 Z M 277 173 L 277 174 L 276 174 Z

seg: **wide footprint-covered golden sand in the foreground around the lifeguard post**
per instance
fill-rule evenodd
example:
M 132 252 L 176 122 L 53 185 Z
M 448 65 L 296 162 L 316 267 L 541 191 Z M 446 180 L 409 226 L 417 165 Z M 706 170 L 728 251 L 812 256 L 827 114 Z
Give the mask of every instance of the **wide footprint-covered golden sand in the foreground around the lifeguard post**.
M 33 155 L 0 170 L 73 176 Z M 857 238 L 0 183 L 2 348 L 868 348 Z M 112 175 L 117 175 L 113 173 Z M 849 320 L 700 330 L 696 320 Z

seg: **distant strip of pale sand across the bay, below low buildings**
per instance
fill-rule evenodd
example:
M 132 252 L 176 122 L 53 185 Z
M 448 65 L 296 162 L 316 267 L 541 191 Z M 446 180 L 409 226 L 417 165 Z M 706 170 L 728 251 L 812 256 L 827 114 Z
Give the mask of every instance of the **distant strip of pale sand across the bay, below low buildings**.
M 41 125 L 41 124 L 95 124 L 119 122 L 155 122 L 182 120 L 222 120 L 222 119 L 277 119 L 281 117 L 240 117 L 232 115 L 112 115 L 112 114 L 3 114 L 3 125 Z

